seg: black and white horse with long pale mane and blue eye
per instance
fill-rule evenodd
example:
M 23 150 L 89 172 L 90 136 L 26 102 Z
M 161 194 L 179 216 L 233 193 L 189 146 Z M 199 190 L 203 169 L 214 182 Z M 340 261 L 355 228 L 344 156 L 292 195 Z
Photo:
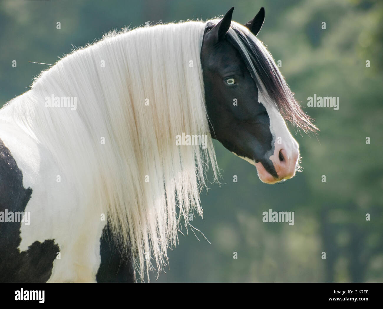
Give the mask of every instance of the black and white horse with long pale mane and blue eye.
M 0 281 L 134 282 L 167 265 L 218 140 L 262 182 L 293 177 L 313 120 L 248 23 L 111 31 L 0 110 Z M 178 137 L 177 137 L 178 136 Z M 179 137 L 182 136 L 182 139 Z

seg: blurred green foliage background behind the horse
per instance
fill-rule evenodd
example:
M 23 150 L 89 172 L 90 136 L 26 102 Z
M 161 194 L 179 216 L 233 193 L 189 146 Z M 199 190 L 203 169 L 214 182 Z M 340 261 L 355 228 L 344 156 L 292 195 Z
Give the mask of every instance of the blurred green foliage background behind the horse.
M 211 245 L 190 230 L 180 235 L 157 281 L 383 281 L 381 1 L 2 1 L 0 106 L 47 68 L 28 61 L 53 64 L 72 44 L 84 46 L 113 28 L 206 20 L 233 5 L 233 20 L 240 23 L 265 7 L 259 38 L 282 61 L 288 84 L 321 131 L 317 137 L 296 134 L 304 171 L 273 186 L 215 143 L 224 184 L 201 194 L 204 220 L 192 223 Z M 314 94 L 339 96 L 339 110 L 308 108 Z M 268 209 L 295 211 L 295 225 L 262 222 Z

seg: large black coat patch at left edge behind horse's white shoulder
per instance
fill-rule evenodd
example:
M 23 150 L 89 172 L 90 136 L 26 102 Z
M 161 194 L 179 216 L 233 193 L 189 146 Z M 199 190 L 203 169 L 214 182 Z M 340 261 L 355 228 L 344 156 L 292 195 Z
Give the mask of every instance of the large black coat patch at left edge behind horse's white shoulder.
M 24 212 L 31 195 L 32 189 L 23 187 L 23 173 L 0 139 L 0 211 Z M 36 241 L 20 252 L 21 224 L 0 222 L 0 282 L 46 282 L 59 246 L 48 239 Z

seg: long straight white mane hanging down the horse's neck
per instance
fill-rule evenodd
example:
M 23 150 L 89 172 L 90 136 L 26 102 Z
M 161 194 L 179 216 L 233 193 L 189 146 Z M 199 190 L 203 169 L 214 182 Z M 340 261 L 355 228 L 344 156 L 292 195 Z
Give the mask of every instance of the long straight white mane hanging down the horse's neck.
M 211 138 L 206 149 L 175 143 L 183 132 L 210 136 L 204 29 L 188 21 L 109 34 L 65 56 L 2 110 L 57 158 L 54 173 L 73 182 L 78 207 L 105 211 L 141 278 L 166 265 L 180 221 L 202 215 L 209 164 L 217 177 Z M 52 95 L 76 97 L 77 109 L 45 107 Z

